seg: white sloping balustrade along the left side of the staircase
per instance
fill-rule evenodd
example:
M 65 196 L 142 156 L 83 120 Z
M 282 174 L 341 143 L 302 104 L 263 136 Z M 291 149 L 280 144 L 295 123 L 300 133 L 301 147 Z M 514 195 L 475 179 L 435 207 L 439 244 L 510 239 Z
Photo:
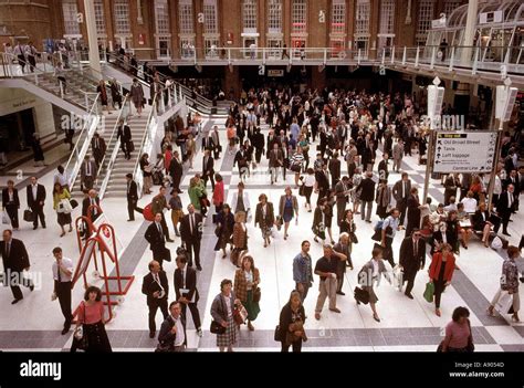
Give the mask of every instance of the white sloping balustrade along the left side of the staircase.
M 96 95 L 95 101 L 93 105 L 91 106 L 91 109 L 88 111 L 88 114 L 84 116 L 84 119 L 83 119 L 84 124 L 82 126 L 82 130 L 80 135 L 77 136 L 76 143 L 73 147 L 73 150 L 71 151 L 70 158 L 67 159 L 67 162 L 65 164 L 65 171 L 69 177 L 67 183 L 69 183 L 71 192 L 73 191 L 73 186 L 80 172 L 82 162 L 84 161 L 84 158 L 87 155 L 87 150 L 90 149 L 91 139 L 93 138 L 93 135 L 95 134 L 96 128 L 98 127 L 98 123 L 101 119 L 98 115 L 98 98 L 99 98 L 99 93 Z M 75 157 L 76 159 L 74 159 Z

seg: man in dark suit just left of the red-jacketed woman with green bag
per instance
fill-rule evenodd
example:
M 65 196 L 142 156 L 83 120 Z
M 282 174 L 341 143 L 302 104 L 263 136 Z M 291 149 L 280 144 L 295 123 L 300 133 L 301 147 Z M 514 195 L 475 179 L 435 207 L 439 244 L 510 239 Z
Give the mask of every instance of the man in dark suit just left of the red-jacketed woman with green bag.
M 413 298 L 411 290 L 415 285 L 415 276 L 426 265 L 426 242 L 421 238 L 418 228 L 413 229 L 411 235 L 405 238 L 400 244 L 400 266 L 404 270 L 402 285 L 408 282 L 405 295 Z

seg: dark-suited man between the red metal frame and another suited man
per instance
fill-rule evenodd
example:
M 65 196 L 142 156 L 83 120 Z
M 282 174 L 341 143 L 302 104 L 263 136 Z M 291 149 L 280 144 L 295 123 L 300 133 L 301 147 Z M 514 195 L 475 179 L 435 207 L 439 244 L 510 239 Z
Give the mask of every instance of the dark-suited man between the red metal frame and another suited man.
M 142 293 L 147 295 L 147 307 L 149 307 L 149 338 L 155 338 L 157 310 L 160 308 L 164 319 L 166 319 L 168 315 L 167 297 L 169 294 L 166 272 L 161 270 L 160 263 L 155 260 L 149 263 L 149 273 L 144 276 Z

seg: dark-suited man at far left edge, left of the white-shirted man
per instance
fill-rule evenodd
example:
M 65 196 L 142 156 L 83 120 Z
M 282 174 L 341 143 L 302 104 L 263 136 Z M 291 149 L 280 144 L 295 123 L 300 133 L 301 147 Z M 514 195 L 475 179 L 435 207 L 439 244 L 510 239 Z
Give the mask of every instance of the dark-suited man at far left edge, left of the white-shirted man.
M 23 271 L 29 271 L 29 255 L 22 241 L 12 238 L 10 229 L 3 231 L 3 241 L 0 241 L 0 253 L 3 261 L 3 284 L 11 287 L 17 304 L 23 300 L 20 284 L 29 290 L 34 290 L 34 284 L 30 279 L 23 277 Z

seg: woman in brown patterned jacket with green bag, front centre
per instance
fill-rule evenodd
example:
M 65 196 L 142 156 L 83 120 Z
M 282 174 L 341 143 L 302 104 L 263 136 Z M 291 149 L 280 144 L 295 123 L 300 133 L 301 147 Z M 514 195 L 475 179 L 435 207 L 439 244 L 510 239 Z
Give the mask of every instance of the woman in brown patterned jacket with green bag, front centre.
M 237 217 L 235 217 L 237 218 Z M 252 322 L 260 313 L 260 272 L 250 254 L 242 258 L 242 265 L 234 274 L 234 294 L 248 312 L 248 328 L 254 331 Z

